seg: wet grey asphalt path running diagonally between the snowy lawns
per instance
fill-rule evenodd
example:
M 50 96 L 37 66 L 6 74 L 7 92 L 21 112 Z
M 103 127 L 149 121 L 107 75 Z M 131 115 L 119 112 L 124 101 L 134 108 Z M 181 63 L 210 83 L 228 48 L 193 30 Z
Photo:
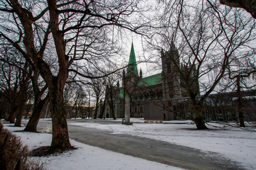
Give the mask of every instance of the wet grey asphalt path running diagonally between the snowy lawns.
M 106 120 L 68 120 L 68 123 L 94 123 L 93 121 L 111 123 L 106 122 Z M 41 121 L 38 124 L 38 129 L 41 130 L 49 129 L 49 127 L 50 121 Z M 242 169 L 238 163 L 230 162 L 230 160 L 221 157 L 220 154 L 206 153 L 198 149 L 170 144 L 169 142 L 126 134 L 112 134 L 109 131 L 78 125 L 68 125 L 68 131 L 70 138 L 87 145 L 183 169 Z

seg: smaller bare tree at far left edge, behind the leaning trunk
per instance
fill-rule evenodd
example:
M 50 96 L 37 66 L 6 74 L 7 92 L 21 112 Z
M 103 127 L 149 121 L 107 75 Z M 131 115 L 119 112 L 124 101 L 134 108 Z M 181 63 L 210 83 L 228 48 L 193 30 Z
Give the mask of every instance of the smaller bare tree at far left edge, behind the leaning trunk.
M 28 62 L 22 60 L 13 48 L 1 48 L 1 90 L 11 103 L 9 119 L 15 126 L 21 126 L 26 101 L 31 96 Z

